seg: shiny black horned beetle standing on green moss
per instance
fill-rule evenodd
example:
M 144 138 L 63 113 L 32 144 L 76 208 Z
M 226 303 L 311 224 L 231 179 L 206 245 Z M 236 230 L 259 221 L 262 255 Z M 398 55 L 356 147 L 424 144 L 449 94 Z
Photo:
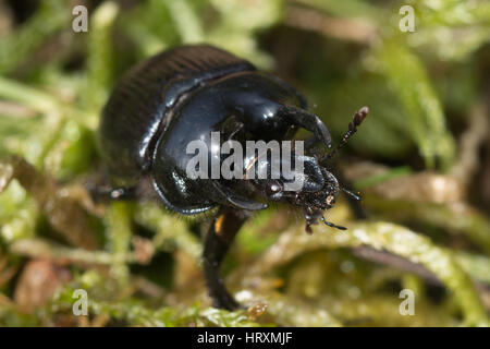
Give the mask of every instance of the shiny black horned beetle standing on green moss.
M 295 174 L 302 176 L 303 185 L 296 191 L 284 190 L 282 172 L 274 179 L 189 178 L 186 166 L 193 155 L 186 146 L 194 140 L 209 144 L 211 132 L 219 132 L 222 140 L 245 143 L 292 140 L 298 128 L 304 128 L 314 135 L 311 144 L 330 149 L 332 141 L 320 118 L 307 111 L 305 97 L 284 81 L 209 45 L 172 48 L 131 69 L 103 108 L 101 155 L 120 183 L 111 197 L 149 195 L 182 215 L 216 207 L 218 213 L 204 240 L 203 267 L 212 304 L 232 310 L 237 303 L 220 278 L 220 264 L 253 212 L 283 202 L 303 209 L 308 232 L 319 219 L 345 229 L 323 218 L 322 212 L 334 205 L 343 189 L 320 164 L 347 142 L 367 112 L 365 107 L 355 115 L 333 152 L 302 155 L 304 168 Z M 212 147 L 208 156 L 221 159 Z M 297 156 L 293 153 L 292 158 Z M 258 158 L 255 153 L 244 157 L 246 170 Z M 270 173 L 269 157 L 264 164 Z

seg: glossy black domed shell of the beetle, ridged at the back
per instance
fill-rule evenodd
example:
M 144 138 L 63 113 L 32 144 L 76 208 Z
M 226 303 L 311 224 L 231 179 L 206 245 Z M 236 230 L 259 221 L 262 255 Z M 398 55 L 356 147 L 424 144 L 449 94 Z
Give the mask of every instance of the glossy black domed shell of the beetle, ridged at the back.
M 226 193 L 217 194 L 216 181 L 186 178 L 186 144 L 209 141 L 211 131 L 225 140 L 223 124 L 236 116 L 253 139 L 283 140 L 295 130 L 277 118 L 284 105 L 306 108 L 293 87 L 243 59 L 207 45 L 181 46 L 120 81 L 103 109 L 101 153 L 127 185 L 150 178 L 166 206 L 196 214 L 228 201 Z

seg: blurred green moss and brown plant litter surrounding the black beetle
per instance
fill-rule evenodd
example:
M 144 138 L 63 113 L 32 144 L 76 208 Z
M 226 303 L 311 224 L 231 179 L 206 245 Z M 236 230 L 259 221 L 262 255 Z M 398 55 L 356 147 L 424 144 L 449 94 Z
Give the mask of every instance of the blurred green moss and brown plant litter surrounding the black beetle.
M 486 0 L 0 0 L 0 325 L 489 325 L 489 41 Z M 344 232 L 308 236 L 290 207 L 255 216 L 223 268 L 237 312 L 206 296 L 210 217 L 85 190 L 103 176 L 96 130 L 118 79 L 193 43 L 297 87 L 336 142 L 370 108 L 335 164 L 368 219 L 345 198 L 328 213 Z

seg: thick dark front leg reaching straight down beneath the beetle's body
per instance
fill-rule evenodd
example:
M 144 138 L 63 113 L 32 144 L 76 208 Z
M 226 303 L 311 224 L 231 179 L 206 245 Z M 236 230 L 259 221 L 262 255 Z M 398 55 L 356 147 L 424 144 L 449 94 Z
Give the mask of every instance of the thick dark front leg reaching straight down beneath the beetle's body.
M 238 308 L 238 303 L 224 287 L 220 276 L 220 265 L 236 232 L 248 218 L 248 215 L 243 210 L 222 207 L 205 237 L 203 267 L 209 297 L 212 300 L 212 305 L 216 308 L 226 310 Z

